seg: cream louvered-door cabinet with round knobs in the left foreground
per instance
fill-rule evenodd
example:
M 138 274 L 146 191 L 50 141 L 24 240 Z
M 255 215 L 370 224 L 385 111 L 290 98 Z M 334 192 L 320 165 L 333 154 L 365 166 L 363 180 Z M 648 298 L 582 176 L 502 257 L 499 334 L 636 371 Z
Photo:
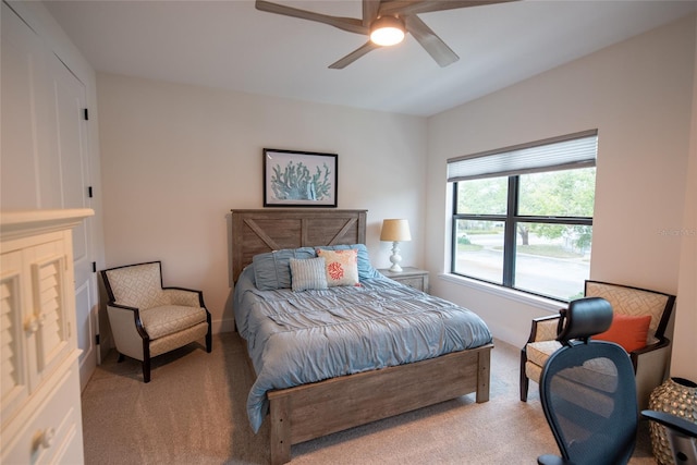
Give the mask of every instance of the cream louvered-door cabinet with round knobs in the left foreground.
M 0 462 L 84 461 L 72 228 L 89 209 L 0 213 Z

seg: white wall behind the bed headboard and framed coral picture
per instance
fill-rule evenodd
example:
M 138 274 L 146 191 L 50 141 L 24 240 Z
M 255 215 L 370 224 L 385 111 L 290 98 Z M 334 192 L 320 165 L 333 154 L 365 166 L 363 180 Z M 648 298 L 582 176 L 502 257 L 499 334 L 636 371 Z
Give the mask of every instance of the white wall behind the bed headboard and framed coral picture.
M 161 259 L 166 285 L 201 289 L 232 329 L 229 213 L 262 207 L 264 147 L 339 155 L 339 208 L 407 218 L 403 265 L 423 266 L 426 119 L 98 75 L 107 266 Z

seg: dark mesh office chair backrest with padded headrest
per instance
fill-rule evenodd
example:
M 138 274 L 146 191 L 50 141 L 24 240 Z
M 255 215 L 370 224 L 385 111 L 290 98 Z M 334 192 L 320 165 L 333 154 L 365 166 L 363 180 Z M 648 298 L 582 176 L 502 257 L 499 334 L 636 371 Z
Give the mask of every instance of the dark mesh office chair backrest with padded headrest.
M 563 347 L 540 378 L 545 416 L 564 460 L 626 464 L 638 424 L 634 369 L 620 345 L 591 340 L 610 327 L 612 307 L 589 297 L 572 302 L 564 313 L 558 336 Z

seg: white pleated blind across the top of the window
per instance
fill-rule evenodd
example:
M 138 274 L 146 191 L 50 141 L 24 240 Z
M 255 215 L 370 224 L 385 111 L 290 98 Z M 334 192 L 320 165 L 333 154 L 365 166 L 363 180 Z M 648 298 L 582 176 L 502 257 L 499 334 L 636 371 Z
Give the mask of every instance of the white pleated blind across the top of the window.
M 597 152 L 598 131 L 585 131 L 451 158 L 448 182 L 595 167 Z

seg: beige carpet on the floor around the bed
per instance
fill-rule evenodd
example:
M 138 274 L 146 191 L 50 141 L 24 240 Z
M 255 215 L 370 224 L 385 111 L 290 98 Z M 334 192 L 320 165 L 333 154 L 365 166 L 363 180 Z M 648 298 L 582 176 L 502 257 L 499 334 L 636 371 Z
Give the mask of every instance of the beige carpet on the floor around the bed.
M 269 426 L 249 428 L 253 381 L 236 333 L 159 356 L 142 382 L 139 363 L 112 351 L 83 392 L 87 464 L 266 464 Z M 294 445 L 293 464 L 524 464 L 558 453 L 537 384 L 518 399 L 519 350 L 496 341 L 491 399 L 469 394 Z M 633 465 L 655 464 L 643 421 Z

